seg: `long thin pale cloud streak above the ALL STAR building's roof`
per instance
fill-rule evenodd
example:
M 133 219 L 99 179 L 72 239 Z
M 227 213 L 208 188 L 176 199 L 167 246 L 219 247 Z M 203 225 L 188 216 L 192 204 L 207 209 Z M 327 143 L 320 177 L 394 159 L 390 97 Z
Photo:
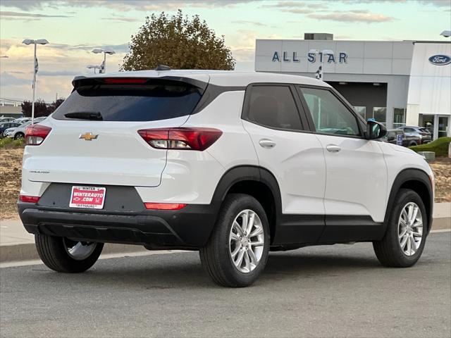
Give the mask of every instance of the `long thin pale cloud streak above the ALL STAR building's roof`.
M 325 14 L 309 14 L 307 16 L 312 19 L 338 21 L 345 23 L 385 23 L 395 20 L 395 18 L 393 18 L 392 16 L 371 13 L 366 10 L 335 11 Z

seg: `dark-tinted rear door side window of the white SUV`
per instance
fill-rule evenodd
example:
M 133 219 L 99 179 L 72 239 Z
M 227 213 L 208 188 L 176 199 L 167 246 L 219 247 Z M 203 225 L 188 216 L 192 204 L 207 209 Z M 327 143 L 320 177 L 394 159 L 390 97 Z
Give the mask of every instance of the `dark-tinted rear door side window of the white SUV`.
M 266 127 L 302 129 L 295 99 L 288 86 L 252 87 L 247 118 Z

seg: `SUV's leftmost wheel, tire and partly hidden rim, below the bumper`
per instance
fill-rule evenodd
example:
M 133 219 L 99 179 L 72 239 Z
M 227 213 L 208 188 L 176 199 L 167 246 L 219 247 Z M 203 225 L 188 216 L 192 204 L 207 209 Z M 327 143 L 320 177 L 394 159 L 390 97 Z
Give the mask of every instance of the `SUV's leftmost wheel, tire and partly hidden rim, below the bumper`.
M 78 242 L 66 237 L 36 234 L 37 253 L 42 262 L 58 273 L 82 273 L 94 265 L 103 243 Z

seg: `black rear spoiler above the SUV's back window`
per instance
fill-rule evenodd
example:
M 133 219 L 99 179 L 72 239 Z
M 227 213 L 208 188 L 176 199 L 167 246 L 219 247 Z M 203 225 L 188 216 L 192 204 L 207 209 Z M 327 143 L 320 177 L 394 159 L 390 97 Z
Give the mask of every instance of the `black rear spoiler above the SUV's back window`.
M 86 76 L 76 76 L 72 80 L 72 85 L 74 89 L 80 87 L 81 85 L 89 84 L 146 84 L 151 80 L 156 81 L 173 81 L 173 82 L 183 82 L 191 84 L 194 87 L 201 89 L 202 93 L 208 86 L 208 82 L 195 80 L 190 77 L 182 76 L 161 76 L 161 77 L 86 77 Z

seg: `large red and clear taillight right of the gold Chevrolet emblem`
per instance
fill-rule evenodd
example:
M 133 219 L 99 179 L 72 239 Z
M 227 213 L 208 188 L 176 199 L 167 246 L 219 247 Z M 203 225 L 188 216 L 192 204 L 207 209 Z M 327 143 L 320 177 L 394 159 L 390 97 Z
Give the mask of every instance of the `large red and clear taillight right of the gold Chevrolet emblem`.
M 141 137 L 156 149 L 204 151 L 221 137 L 215 128 L 179 127 L 138 130 Z

